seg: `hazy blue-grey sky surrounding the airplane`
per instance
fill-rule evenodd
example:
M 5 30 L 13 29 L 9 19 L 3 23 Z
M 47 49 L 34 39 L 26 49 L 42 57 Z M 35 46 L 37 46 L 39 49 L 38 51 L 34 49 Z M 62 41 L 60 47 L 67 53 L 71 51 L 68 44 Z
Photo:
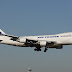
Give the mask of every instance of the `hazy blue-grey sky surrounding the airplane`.
M 72 0 L 0 0 L 0 28 L 15 36 L 71 32 Z M 28 67 L 32 72 L 72 72 L 72 46 L 44 53 L 0 44 L 0 72 L 27 72 Z

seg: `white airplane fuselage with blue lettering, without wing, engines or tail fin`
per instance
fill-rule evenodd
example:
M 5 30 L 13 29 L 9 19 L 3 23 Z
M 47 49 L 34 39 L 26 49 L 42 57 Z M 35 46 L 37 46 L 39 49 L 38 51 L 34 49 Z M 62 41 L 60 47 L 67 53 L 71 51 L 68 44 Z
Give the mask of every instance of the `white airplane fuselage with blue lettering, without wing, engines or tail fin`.
M 19 37 L 19 39 L 29 39 L 29 40 L 36 40 L 36 41 L 47 41 L 47 42 L 56 42 L 56 45 L 72 45 L 72 32 L 69 33 L 62 33 L 56 35 L 40 35 L 40 36 L 24 36 Z M 14 45 L 14 46 L 25 46 L 22 42 L 17 42 L 10 40 L 10 37 L 7 36 L 0 36 L 0 43 L 7 44 L 7 45 Z

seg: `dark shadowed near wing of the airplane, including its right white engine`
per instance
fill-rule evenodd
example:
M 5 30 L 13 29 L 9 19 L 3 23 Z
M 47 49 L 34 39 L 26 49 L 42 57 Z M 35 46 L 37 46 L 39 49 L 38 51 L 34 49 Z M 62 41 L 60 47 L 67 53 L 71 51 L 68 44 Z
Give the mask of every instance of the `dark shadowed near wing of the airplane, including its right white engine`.
M 43 41 L 43 40 L 30 40 L 30 39 L 26 39 L 25 42 L 26 45 L 30 45 L 30 46 L 40 46 L 40 47 L 48 47 L 48 46 L 54 46 L 56 44 L 56 42 L 54 41 Z

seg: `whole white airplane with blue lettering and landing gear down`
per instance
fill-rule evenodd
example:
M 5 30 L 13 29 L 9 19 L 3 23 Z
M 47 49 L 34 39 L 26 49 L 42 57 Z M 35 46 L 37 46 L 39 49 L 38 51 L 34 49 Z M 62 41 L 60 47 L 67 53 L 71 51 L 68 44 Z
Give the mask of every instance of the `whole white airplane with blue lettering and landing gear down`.
M 8 35 L 0 29 L 0 43 L 19 46 L 19 47 L 35 47 L 34 51 L 41 51 L 45 47 L 44 52 L 48 48 L 62 49 L 63 45 L 72 45 L 72 32 L 60 33 L 55 35 L 38 35 L 38 36 L 13 36 Z

